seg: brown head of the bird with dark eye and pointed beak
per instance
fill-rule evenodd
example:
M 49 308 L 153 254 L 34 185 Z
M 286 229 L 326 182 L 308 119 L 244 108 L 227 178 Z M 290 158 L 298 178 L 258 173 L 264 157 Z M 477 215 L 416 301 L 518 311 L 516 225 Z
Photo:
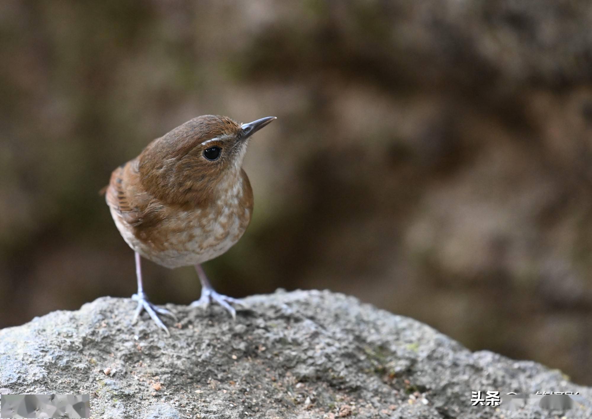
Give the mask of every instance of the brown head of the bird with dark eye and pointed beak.
M 141 182 L 165 202 L 210 199 L 220 185 L 240 181 L 250 136 L 274 116 L 246 124 L 202 115 L 150 143 L 140 154 Z

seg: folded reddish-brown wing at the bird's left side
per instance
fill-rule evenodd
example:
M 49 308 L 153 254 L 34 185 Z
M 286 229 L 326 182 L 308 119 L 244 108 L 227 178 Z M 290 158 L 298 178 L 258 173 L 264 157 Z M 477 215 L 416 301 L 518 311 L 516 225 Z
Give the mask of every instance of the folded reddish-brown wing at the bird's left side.
M 133 159 L 111 173 L 105 200 L 128 224 L 139 227 L 155 225 L 162 219 L 162 204 L 141 185 L 138 160 Z

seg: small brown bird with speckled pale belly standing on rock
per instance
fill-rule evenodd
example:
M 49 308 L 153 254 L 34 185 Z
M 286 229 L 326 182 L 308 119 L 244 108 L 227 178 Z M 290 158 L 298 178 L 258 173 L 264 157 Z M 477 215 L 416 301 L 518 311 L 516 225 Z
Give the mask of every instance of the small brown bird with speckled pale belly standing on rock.
M 169 333 L 158 314 L 175 316 L 149 302 L 142 287 L 140 256 L 168 268 L 194 265 L 201 298 L 214 300 L 233 318 L 240 300 L 215 292 L 201 264 L 239 241 L 251 219 L 253 191 L 242 168 L 250 136 L 276 119 L 239 124 L 203 115 L 153 140 L 139 156 L 115 169 L 105 200 L 117 229 L 136 252 L 138 302 L 133 322 L 146 310 Z

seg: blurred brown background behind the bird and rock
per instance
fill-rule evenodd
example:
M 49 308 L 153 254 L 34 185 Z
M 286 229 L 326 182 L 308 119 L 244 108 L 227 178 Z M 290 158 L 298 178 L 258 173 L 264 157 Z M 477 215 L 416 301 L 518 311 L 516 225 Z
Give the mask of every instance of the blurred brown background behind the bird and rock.
M 585 0 L 3 0 L 0 327 L 134 293 L 117 165 L 277 116 L 218 291 L 329 288 L 592 384 L 591 27 Z M 144 270 L 156 303 L 199 296 Z

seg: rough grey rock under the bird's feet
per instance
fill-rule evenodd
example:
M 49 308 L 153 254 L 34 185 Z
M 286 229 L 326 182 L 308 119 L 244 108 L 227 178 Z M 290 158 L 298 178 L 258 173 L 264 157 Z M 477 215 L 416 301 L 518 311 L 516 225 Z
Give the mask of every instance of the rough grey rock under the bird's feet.
M 171 336 L 135 303 L 99 298 L 0 331 L 3 392 L 91 394 L 94 418 L 590 418 L 471 407 L 471 391 L 592 389 L 479 351 L 413 319 L 327 291 L 253 296 L 233 322 L 169 305 Z M 145 315 L 144 315 L 145 316 Z M 170 324 L 170 323 L 169 323 Z M 495 330 L 491 331 L 495 333 Z

